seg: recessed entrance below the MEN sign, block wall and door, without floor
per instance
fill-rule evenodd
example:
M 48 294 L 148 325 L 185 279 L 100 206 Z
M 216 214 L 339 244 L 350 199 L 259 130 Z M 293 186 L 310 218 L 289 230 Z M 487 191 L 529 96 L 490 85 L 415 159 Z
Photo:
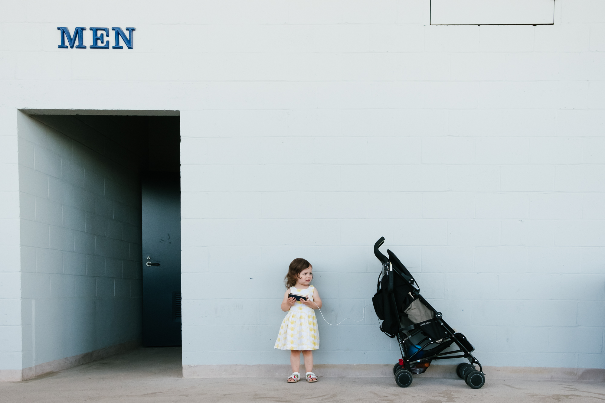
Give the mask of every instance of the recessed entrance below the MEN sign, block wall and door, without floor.
M 180 346 L 178 111 L 25 112 L 27 378 L 141 344 Z

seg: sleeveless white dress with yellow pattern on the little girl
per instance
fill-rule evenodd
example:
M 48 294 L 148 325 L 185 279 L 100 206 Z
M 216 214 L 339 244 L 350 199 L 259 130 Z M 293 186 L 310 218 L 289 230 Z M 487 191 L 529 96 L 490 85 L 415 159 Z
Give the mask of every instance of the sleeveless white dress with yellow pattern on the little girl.
M 290 294 L 304 295 L 313 301 L 313 290 L 290 287 Z M 317 350 L 319 349 L 319 331 L 315 309 L 296 301 L 281 323 L 280 333 L 275 341 L 275 348 L 280 350 Z

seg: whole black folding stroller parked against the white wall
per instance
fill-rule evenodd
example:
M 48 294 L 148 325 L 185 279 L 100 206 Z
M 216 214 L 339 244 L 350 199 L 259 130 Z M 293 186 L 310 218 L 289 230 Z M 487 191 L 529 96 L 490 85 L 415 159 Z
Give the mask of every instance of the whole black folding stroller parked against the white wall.
M 378 250 L 384 237 L 374 244 L 374 255 L 382 263 L 376 294 L 372 298 L 374 310 L 382 320 L 381 330 L 390 338 L 397 338 L 401 359 L 393 367 L 395 382 L 402 388 L 410 386 L 412 374 L 423 373 L 433 359 L 466 358 L 456 368 L 457 375 L 473 389 L 485 384 L 485 374 L 479 361 L 471 354 L 473 345 L 462 333 L 456 333 L 442 319 L 431 304 L 420 295 L 420 287 L 408 269 L 393 252 L 388 258 Z M 443 352 L 456 343 L 457 350 Z M 479 365 L 479 371 L 474 364 Z

